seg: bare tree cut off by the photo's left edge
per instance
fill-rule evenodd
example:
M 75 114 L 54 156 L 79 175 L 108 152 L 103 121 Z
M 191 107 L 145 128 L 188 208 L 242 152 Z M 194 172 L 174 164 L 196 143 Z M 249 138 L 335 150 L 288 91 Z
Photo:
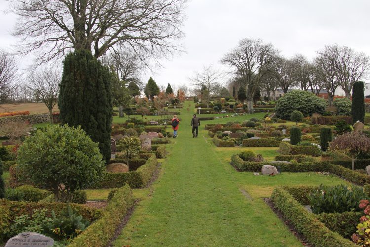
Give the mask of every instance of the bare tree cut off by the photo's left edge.
M 15 93 L 17 70 L 14 57 L 0 49 L 0 103 Z

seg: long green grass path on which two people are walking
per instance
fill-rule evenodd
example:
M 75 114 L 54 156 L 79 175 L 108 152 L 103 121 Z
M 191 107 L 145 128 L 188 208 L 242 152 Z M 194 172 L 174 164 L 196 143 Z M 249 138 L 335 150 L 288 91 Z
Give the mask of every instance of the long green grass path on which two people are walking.
M 192 138 L 187 107 L 161 177 L 141 194 L 115 246 L 300 246 L 262 200 L 239 191 L 237 172 L 214 147 Z

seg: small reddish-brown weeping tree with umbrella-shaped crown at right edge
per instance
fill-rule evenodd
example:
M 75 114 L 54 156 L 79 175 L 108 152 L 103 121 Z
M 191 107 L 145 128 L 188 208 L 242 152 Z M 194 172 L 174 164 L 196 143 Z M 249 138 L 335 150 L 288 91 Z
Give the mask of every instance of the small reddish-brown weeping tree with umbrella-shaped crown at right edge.
M 360 152 L 370 151 L 370 138 L 367 137 L 363 132 L 346 132 L 336 137 L 330 143 L 330 150 L 344 150 L 351 154 L 352 157 L 352 170 L 355 169 L 355 157 Z

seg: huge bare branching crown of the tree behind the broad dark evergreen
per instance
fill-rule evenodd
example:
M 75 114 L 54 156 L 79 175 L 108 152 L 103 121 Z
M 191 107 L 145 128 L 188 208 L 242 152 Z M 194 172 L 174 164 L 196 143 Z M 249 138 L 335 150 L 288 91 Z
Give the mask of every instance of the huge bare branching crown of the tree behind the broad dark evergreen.
M 39 64 L 71 49 L 95 57 L 114 47 L 133 49 L 143 60 L 179 49 L 186 0 L 8 0 L 19 18 L 13 35 L 22 54 L 35 51 Z

